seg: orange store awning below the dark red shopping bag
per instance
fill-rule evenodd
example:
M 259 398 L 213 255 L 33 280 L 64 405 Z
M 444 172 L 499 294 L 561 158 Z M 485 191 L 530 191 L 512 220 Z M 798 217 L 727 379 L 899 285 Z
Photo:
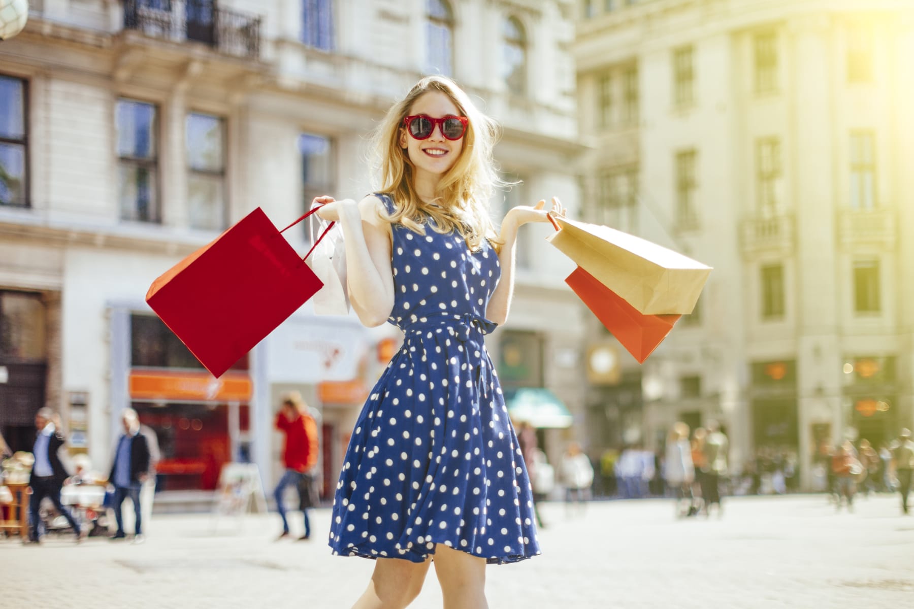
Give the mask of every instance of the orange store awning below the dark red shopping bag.
M 247 402 L 251 394 L 250 377 L 244 373 L 225 373 L 217 379 L 205 372 L 133 370 L 129 387 L 134 400 Z

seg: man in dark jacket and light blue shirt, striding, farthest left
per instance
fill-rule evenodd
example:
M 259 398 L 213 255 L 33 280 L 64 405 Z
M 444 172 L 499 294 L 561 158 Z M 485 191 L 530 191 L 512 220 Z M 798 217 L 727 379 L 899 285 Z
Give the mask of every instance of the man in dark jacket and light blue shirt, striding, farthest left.
M 35 464 L 32 466 L 32 473 L 28 479 L 28 485 L 32 488 L 32 497 L 28 502 L 28 520 L 30 528 L 28 530 L 28 540 L 37 543 L 41 539 L 41 520 L 38 518 L 38 509 L 41 507 L 41 499 L 48 498 L 54 504 L 54 508 L 60 512 L 69 522 L 69 526 L 76 533 L 76 541 L 80 541 L 80 524 L 60 503 L 60 488 L 63 487 L 63 481 L 69 476 L 67 469 L 60 462 L 58 451 L 63 446 L 64 439 L 60 435 L 58 425 L 55 425 L 56 416 L 50 408 L 41 408 L 35 415 L 35 426 L 38 434 L 35 439 L 35 447 L 32 452 L 35 455 Z

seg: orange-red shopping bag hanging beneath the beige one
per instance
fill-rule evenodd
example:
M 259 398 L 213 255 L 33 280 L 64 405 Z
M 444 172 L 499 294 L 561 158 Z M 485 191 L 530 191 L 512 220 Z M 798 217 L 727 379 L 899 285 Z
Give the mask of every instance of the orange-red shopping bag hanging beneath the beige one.
M 644 315 L 580 267 L 565 282 L 638 363 L 654 352 L 682 317 Z

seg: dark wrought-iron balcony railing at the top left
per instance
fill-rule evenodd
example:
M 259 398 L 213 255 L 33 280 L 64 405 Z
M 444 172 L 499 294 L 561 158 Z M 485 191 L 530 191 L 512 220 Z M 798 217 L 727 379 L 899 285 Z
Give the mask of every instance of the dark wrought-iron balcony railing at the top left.
M 213 0 L 125 0 L 123 6 L 126 29 L 175 42 L 195 40 L 239 58 L 260 57 L 260 20 Z

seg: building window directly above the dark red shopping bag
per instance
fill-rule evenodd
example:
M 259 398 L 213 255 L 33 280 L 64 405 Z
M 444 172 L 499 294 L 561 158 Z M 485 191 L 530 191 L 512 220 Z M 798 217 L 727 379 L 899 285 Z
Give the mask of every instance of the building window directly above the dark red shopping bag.
M 228 225 L 225 195 L 225 121 L 187 115 L 187 209 L 191 228 L 223 230 Z

